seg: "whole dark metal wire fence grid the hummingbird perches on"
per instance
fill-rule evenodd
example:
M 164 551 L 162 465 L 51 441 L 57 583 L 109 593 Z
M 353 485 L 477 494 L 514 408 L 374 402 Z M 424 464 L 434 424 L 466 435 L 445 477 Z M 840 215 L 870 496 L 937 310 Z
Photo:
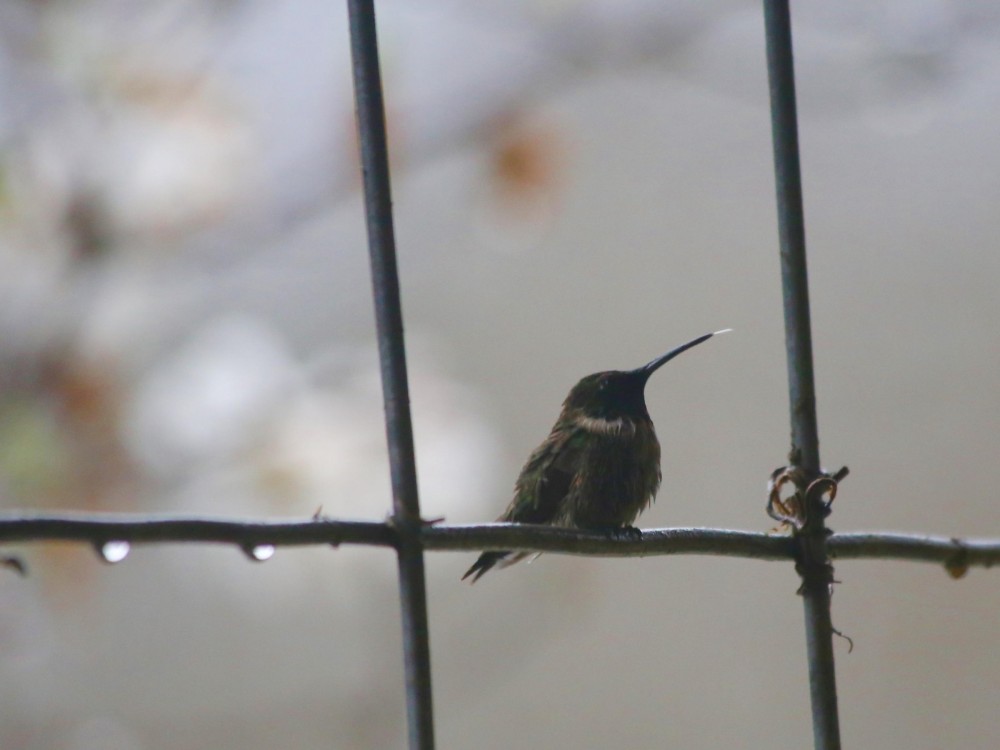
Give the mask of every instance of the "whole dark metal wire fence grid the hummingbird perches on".
M 794 561 L 802 594 L 815 747 L 840 747 L 830 619 L 831 560 L 897 558 L 944 565 L 954 574 L 1000 562 L 1000 541 L 902 534 L 833 534 L 825 523 L 837 483 L 820 468 L 813 384 L 805 222 L 799 169 L 792 33 L 788 0 L 764 0 L 767 68 L 777 188 L 792 445 L 789 465 L 772 475 L 768 512 L 792 534 L 661 529 L 641 539 L 570 529 L 485 524 L 445 526 L 420 514 L 407 368 L 396 267 L 392 200 L 373 0 L 348 0 L 353 80 L 364 177 L 372 286 L 389 446 L 393 511 L 385 522 L 317 517 L 298 523 L 14 513 L 0 519 L 0 542 L 75 540 L 105 557 L 127 545 L 212 542 L 239 546 L 251 558 L 278 545 L 361 544 L 391 547 L 399 567 L 409 747 L 434 747 L 431 658 L 424 552 L 524 549 L 607 556 L 712 554 Z M 791 490 L 791 494 L 789 493 Z M 23 564 L 6 558 L 21 572 Z

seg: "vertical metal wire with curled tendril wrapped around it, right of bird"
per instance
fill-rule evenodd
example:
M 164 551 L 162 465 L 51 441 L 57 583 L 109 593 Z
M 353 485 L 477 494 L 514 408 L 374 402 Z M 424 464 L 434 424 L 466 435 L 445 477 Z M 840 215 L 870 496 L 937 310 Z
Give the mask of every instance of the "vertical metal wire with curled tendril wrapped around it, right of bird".
M 767 72 L 771 93 L 774 172 L 778 198 L 778 234 L 788 352 L 791 411 L 790 461 L 807 477 L 820 472 L 813 384 L 809 286 L 806 273 L 805 219 L 799 168 L 792 28 L 788 0 L 764 0 Z M 821 497 L 807 497 L 807 528 L 800 534 L 802 599 L 812 701 L 813 742 L 817 750 L 839 750 L 837 682 L 830 622 L 830 569 Z

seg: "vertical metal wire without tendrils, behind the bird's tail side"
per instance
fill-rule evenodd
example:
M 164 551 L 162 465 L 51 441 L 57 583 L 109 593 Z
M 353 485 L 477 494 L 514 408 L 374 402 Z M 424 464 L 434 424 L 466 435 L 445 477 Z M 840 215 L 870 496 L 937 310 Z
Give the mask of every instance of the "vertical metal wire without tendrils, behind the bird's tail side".
M 427 587 L 420 543 L 420 502 L 403 342 L 403 315 L 392 222 L 385 107 L 373 0 L 348 0 L 365 219 L 371 260 L 386 436 L 392 474 L 393 521 L 399 534 L 399 592 L 406 671 L 410 750 L 434 747 Z

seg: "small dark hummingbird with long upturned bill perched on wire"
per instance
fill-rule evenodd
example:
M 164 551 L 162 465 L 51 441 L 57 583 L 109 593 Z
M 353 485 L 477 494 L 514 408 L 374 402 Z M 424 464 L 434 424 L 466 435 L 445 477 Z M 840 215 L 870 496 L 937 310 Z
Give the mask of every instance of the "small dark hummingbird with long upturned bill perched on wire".
M 549 436 L 528 457 L 497 521 L 638 535 L 632 522 L 660 488 L 660 442 L 646 410 L 649 376 L 678 354 L 727 333 L 706 333 L 635 370 L 588 375 L 570 390 Z M 462 580 L 532 553 L 483 552 Z

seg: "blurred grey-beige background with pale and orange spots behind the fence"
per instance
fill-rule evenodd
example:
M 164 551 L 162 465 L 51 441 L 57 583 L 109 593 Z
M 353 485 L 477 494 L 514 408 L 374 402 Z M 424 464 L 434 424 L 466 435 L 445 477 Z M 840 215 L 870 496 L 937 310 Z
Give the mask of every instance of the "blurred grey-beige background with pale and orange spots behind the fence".
M 1000 536 L 1000 8 L 793 3 L 840 531 Z M 788 450 L 758 2 L 378 6 L 426 517 L 492 520 L 582 375 L 651 381 L 644 526 L 765 531 Z M 0 504 L 389 509 L 342 3 L 0 4 Z M 396 748 L 385 550 L 46 544 L 4 750 Z M 439 745 L 805 747 L 781 563 L 428 555 Z M 997 574 L 842 562 L 846 747 L 1000 740 Z

